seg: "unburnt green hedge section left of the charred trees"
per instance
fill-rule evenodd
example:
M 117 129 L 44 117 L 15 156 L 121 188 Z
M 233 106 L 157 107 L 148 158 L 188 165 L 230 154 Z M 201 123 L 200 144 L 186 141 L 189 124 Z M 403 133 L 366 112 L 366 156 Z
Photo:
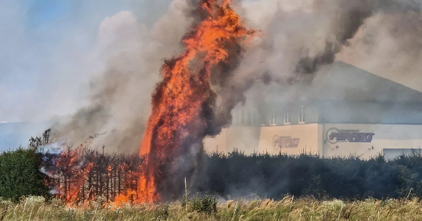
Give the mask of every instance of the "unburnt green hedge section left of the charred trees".
M 49 188 L 40 172 L 42 155 L 35 148 L 19 147 L 0 155 L 0 197 L 19 200 L 26 195 L 45 196 Z

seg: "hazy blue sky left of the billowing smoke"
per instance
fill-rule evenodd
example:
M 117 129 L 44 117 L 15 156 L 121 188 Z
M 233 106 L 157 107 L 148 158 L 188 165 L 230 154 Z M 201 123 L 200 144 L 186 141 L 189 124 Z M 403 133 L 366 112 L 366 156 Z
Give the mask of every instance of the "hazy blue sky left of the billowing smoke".
M 89 78 L 103 69 L 97 54 L 101 21 L 124 10 L 154 20 L 168 2 L 0 1 L 0 122 L 74 112 Z

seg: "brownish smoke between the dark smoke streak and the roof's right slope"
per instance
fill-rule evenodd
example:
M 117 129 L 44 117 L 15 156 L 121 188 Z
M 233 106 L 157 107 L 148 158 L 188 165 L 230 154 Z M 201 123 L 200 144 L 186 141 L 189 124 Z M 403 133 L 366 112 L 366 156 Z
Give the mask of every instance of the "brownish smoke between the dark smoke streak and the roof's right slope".
M 417 10 L 381 12 L 367 19 L 338 59 L 410 88 L 420 86 L 422 17 Z

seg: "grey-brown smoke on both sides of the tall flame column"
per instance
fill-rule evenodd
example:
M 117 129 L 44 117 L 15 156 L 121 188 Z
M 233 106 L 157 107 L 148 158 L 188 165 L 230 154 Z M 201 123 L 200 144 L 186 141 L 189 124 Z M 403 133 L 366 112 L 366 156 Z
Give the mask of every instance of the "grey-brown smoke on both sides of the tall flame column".
M 98 40 L 102 59 L 107 61 L 106 71 L 95 76 L 87 104 L 68 122 L 57 125 L 55 136 L 80 142 L 106 132 L 95 143 L 119 150 L 137 149 L 150 113 L 151 92 L 160 80 L 159 67 L 164 59 L 181 51 L 181 37 L 192 22 L 200 20 L 201 15 L 190 10 L 195 2 L 174 1 L 152 27 L 140 23 L 129 11 L 104 19 Z M 211 82 L 218 99 L 209 134 L 215 136 L 231 124 L 231 111 L 238 104 L 263 102 L 259 85 L 306 86 L 321 66 L 337 58 L 370 70 L 379 70 L 368 62 L 377 55 L 382 55 L 375 59 L 381 64 L 377 66 L 388 67 L 382 64 L 393 60 L 400 69 L 416 67 L 420 51 L 413 47 L 420 30 L 415 28 L 419 19 L 416 6 L 399 0 L 238 3 L 236 10 L 249 26 L 262 31 L 262 37 L 251 43 L 242 59 L 214 70 Z M 396 16 L 401 20 L 395 21 Z M 397 28 L 409 35 L 397 34 Z M 385 46 L 379 47 L 383 41 Z M 412 53 L 405 53 L 406 48 Z M 395 56 L 399 51 L 405 56 Z M 387 54 L 394 56 L 384 59 Z M 296 95 L 290 92 L 288 96 L 294 99 Z

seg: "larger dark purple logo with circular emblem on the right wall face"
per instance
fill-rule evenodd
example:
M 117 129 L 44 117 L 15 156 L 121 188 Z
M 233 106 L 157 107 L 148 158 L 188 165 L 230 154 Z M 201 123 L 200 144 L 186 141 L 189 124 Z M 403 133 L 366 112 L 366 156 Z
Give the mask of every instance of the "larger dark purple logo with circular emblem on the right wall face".
M 374 135 L 375 133 L 361 133 L 359 130 L 338 130 L 337 128 L 330 128 L 327 130 L 327 141 L 330 144 L 347 141 L 350 143 L 371 143 Z

